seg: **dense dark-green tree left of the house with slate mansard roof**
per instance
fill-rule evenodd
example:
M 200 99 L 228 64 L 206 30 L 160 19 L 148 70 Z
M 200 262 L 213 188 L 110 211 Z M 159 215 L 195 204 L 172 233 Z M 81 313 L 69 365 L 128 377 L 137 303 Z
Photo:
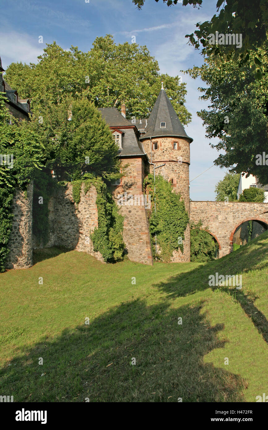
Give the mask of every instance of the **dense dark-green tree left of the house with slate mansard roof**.
M 46 167 L 58 179 L 81 178 L 90 172 L 115 178 L 119 172 L 118 147 L 102 115 L 88 99 L 66 98 L 39 106 L 31 124 L 44 147 Z

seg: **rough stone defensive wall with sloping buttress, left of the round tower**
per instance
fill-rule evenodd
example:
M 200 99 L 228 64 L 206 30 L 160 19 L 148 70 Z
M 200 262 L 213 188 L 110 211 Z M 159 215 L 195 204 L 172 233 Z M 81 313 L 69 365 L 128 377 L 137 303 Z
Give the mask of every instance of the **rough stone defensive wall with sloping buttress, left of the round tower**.
M 16 190 L 12 212 L 13 224 L 6 260 L 7 269 L 31 267 L 33 249 L 64 247 L 86 252 L 103 261 L 99 252 L 93 251 L 90 234 L 98 228 L 97 191 L 94 186 L 85 195 L 82 184 L 81 200 L 77 205 L 72 197 L 72 184 L 59 187 L 49 200 L 49 240 L 38 242 L 32 233 L 33 183 L 28 187 L 27 197 Z M 120 206 L 125 215 L 123 239 L 130 261 L 152 264 L 151 243 L 145 206 Z

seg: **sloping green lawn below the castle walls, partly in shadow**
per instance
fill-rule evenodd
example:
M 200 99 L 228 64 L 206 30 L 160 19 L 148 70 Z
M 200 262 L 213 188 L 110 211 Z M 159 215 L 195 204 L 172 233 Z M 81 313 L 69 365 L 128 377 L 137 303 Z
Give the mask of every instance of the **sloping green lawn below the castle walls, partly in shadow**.
M 255 402 L 268 394 L 268 233 L 207 264 L 112 265 L 56 249 L 46 258 L 0 274 L 0 395 Z M 242 289 L 209 287 L 216 272 L 242 273 Z

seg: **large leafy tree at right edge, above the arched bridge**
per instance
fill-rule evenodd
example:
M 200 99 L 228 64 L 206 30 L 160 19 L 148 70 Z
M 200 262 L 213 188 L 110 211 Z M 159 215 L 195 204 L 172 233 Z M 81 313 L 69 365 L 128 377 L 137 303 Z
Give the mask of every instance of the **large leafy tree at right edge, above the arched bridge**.
M 261 63 L 259 79 L 255 79 L 250 61 L 243 65 L 235 56 L 228 58 L 209 56 L 202 67 L 188 70 L 193 77 L 201 77 L 206 86 L 200 91 L 201 99 L 209 101 L 209 108 L 197 112 L 206 126 L 207 138 L 218 138 L 211 144 L 221 153 L 215 160 L 217 166 L 228 168 L 231 173 L 247 172 L 268 183 L 268 169 L 256 163 L 258 154 L 268 152 L 268 43 L 258 49 Z

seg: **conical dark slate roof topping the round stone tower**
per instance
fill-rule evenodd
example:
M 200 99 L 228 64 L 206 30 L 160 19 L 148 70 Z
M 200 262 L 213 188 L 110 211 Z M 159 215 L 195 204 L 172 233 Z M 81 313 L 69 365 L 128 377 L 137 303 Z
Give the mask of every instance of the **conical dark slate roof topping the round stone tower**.
M 161 128 L 161 123 L 166 123 L 166 127 Z M 188 138 L 190 139 L 190 143 L 193 141 L 193 139 L 185 133 L 185 129 L 163 88 L 160 90 L 157 101 L 148 118 L 145 131 L 145 135 L 143 135 L 140 140 L 150 137 L 171 136 Z

